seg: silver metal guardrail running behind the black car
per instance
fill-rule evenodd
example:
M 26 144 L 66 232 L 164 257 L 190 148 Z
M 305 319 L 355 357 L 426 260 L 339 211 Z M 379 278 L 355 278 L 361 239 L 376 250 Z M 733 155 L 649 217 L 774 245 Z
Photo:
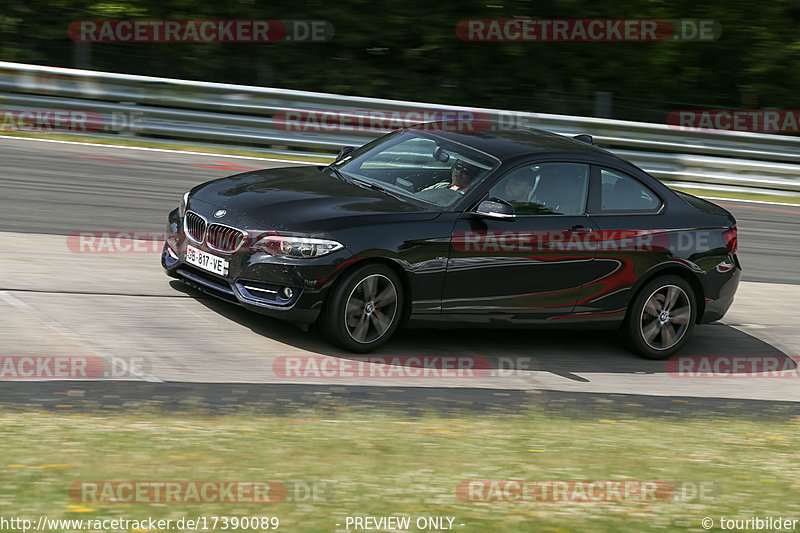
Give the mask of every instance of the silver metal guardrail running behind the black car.
M 379 113 L 436 120 L 466 113 L 500 124 L 556 133 L 588 133 L 668 184 L 710 190 L 800 196 L 800 138 L 704 130 L 565 115 L 457 107 L 266 87 L 132 76 L 0 62 L 0 104 L 14 110 L 102 114 L 96 135 L 291 149 L 329 154 L 388 132 L 381 127 L 309 127 L 287 122 L 309 112 L 357 121 Z M 414 115 L 417 113 L 417 115 Z M 368 120 L 370 122 L 370 120 Z M 391 121 L 389 121 L 391 122 Z M 296 127 L 295 127 L 296 126 Z

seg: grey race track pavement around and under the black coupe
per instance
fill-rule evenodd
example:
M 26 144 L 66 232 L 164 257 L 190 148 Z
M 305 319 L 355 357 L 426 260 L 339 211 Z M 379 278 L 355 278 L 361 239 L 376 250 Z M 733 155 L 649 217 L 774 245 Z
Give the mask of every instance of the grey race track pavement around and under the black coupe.
M 0 357 L 137 360 L 135 375 L 123 379 L 151 382 L 425 387 L 437 394 L 457 390 L 460 397 L 497 390 L 800 400 L 791 377 L 678 377 L 666 362 L 626 352 L 615 332 L 405 330 L 373 355 L 474 356 L 491 370 L 460 377 L 283 378 L 275 371 L 281 358 L 353 356 L 313 331 L 167 278 L 156 247 L 76 253 L 67 235 L 161 231 L 166 213 L 192 185 L 285 163 L 14 138 L 0 138 L 0 161 Z M 793 366 L 800 361 L 800 207 L 718 203 L 738 220 L 744 282 L 725 319 L 695 329 L 680 355 L 772 356 Z

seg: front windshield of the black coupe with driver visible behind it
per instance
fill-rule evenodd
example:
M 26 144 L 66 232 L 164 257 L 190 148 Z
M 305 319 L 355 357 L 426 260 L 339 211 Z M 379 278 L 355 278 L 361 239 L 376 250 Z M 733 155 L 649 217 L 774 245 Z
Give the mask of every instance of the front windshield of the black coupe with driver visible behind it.
M 442 210 L 455 205 L 498 165 L 488 154 L 413 130 L 391 133 L 335 163 L 346 178 Z

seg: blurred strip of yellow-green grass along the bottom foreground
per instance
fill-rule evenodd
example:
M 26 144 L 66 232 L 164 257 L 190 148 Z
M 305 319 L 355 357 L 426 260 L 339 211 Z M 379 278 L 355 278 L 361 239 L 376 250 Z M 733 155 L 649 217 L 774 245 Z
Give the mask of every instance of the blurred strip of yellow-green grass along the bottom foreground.
M 463 532 L 703 531 L 705 516 L 800 518 L 796 421 L 301 416 L 0 414 L 0 515 L 278 516 L 280 530 L 292 532 L 344 531 L 345 517 L 356 515 L 451 516 Z M 688 502 L 473 503 L 455 492 L 470 479 L 692 480 L 717 483 L 720 492 Z M 82 480 L 302 480 L 327 484 L 333 495 L 310 503 L 95 504 L 68 496 Z

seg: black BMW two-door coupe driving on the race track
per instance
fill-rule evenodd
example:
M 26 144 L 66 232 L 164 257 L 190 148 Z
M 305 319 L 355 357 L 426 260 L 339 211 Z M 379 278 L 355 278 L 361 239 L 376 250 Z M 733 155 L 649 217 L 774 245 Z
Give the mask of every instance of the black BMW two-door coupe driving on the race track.
M 736 252 L 729 212 L 588 136 L 445 122 L 198 185 L 161 261 L 355 352 L 403 324 L 601 325 L 662 359 L 728 310 Z

